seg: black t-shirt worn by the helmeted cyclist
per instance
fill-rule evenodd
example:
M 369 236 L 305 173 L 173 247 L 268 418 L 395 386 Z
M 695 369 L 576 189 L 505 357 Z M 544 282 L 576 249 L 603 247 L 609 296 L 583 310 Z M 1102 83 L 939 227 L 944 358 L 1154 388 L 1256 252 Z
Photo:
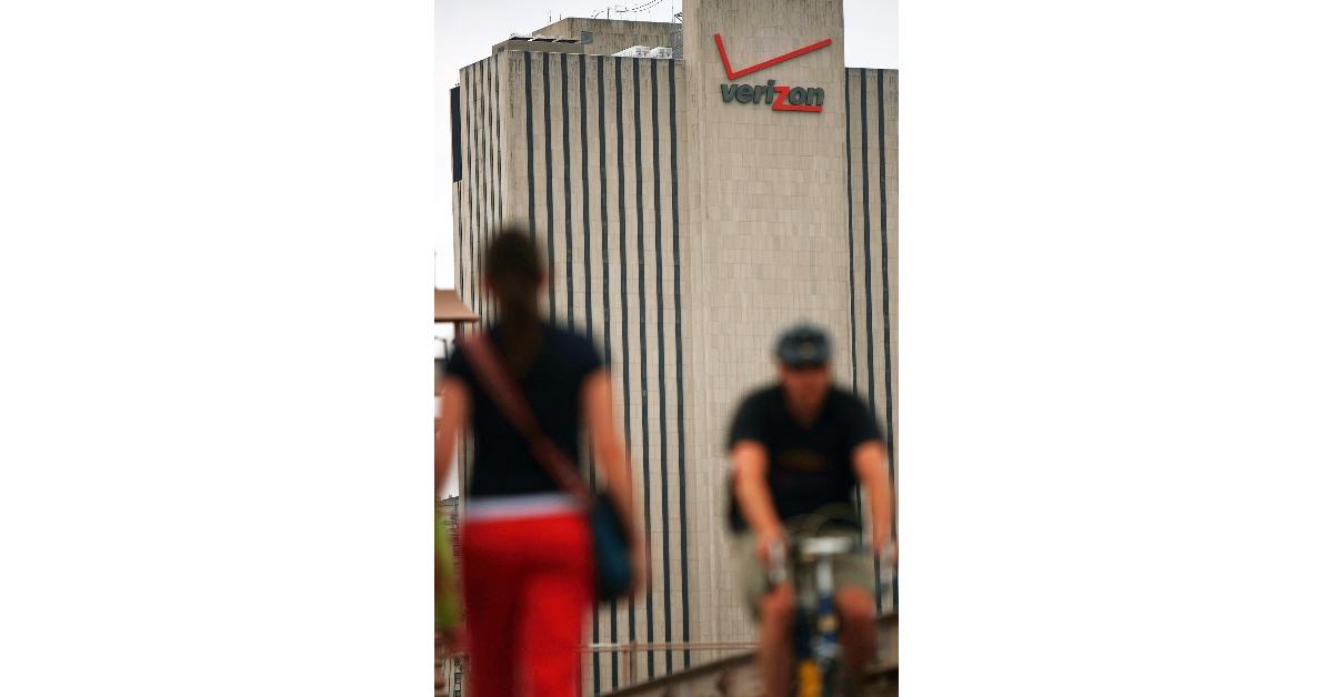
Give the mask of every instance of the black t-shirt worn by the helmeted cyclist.
M 829 504 L 854 510 L 856 472 L 852 452 L 866 441 L 884 440 L 874 413 L 856 394 L 830 386 L 824 408 L 809 426 L 792 416 L 780 385 L 750 393 L 736 410 L 728 449 L 752 440 L 768 454 L 768 488 L 777 517 L 788 521 Z M 746 528 L 740 509 L 729 513 L 732 530 Z

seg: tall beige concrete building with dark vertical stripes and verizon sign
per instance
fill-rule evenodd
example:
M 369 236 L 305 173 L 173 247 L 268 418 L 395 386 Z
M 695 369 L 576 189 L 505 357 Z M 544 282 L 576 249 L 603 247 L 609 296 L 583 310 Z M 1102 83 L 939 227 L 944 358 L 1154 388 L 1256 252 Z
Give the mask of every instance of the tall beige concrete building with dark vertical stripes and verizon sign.
M 825 325 L 837 378 L 894 420 L 897 71 L 845 65 L 840 0 L 686 0 L 678 24 L 496 39 L 452 95 L 456 283 L 492 321 L 480 255 L 503 225 L 531 231 L 551 317 L 609 358 L 652 580 L 599 610 L 591 640 L 753 641 L 724 438 L 772 378 L 777 332 Z M 589 692 L 717 653 L 595 656 Z

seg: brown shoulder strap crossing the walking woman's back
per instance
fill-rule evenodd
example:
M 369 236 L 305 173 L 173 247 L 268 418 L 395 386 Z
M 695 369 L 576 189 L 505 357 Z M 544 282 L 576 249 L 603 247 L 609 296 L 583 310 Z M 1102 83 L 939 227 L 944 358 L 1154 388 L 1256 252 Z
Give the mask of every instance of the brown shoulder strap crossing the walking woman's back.
M 569 457 L 556 445 L 541 429 L 541 424 L 532 413 L 528 400 L 524 398 L 519 384 L 509 370 L 500 361 L 500 352 L 485 332 L 479 332 L 461 343 L 461 349 L 468 356 L 468 362 L 487 390 L 491 401 L 509 424 L 528 441 L 528 449 L 537 460 L 537 464 L 556 480 L 561 488 L 583 502 L 591 500 L 591 492 L 579 476 L 579 468 L 569 461 Z

